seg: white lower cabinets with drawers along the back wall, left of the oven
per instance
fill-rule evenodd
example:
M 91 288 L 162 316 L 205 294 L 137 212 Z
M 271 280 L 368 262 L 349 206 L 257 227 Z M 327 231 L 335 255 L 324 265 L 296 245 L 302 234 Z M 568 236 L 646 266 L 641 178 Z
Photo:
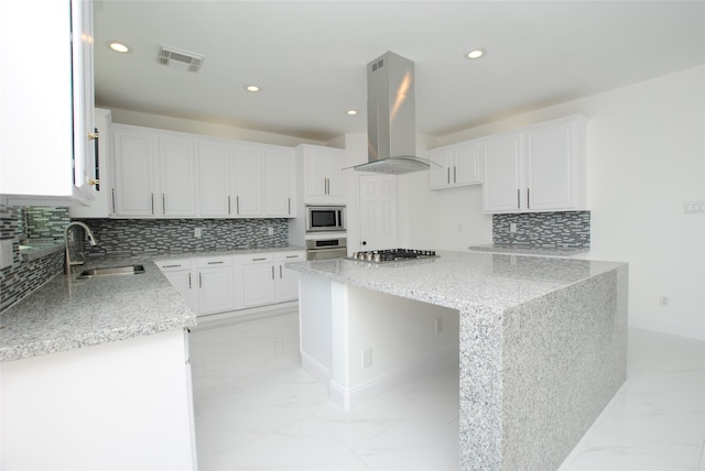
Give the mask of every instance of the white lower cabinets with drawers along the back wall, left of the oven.
M 299 274 L 284 265 L 304 260 L 299 250 L 155 263 L 188 306 L 205 316 L 299 299 Z

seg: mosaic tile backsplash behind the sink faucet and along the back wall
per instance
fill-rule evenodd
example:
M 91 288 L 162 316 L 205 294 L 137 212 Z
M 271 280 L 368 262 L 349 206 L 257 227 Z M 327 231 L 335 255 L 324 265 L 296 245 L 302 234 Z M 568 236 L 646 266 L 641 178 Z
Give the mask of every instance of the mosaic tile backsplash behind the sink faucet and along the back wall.
M 20 241 L 63 241 L 70 222 L 67 208 L 0 206 L 0 239 L 12 239 L 13 264 L 0 271 L 0 311 L 41 287 L 64 270 L 64 251 L 22 260 Z M 98 244 L 84 231 L 69 234 L 72 259 L 86 256 L 167 254 L 289 245 L 289 220 L 281 219 L 84 219 Z M 195 237 L 196 228 L 202 237 Z M 271 234 L 270 234 L 271 230 Z

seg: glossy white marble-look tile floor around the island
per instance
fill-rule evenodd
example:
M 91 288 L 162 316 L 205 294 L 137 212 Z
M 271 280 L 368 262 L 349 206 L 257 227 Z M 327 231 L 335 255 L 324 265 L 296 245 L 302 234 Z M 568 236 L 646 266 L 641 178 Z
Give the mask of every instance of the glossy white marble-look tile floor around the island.
M 209 470 L 456 470 L 457 366 L 346 414 L 300 368 L 295 313 L 191 335 Z M 561 471 L 705 471 L 705 342 L 630 330 L 629 379 Z

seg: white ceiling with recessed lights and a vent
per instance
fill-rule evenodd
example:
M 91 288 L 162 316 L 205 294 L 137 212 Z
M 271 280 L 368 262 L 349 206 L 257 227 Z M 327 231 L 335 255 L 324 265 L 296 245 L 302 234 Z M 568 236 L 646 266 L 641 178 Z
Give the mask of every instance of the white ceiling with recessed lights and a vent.
M 94 4 L 98 106 L 314 141 L 366 132 L 366 65 L 387 51 L 414 62 L 417 131 L 436 136 L 705 63 L 703 1 Z M 203 67 L 159 64 L 160 45 Z

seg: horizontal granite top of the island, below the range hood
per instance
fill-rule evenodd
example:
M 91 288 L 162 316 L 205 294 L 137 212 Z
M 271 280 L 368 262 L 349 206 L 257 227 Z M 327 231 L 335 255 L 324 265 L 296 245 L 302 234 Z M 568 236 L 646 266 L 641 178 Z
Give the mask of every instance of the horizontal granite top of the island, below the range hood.
M 622 265 L 620 262 L 438 251 L 438 258 L 371 263 L 288 263 L 306 274 L 459 310 L 505 309 Z

